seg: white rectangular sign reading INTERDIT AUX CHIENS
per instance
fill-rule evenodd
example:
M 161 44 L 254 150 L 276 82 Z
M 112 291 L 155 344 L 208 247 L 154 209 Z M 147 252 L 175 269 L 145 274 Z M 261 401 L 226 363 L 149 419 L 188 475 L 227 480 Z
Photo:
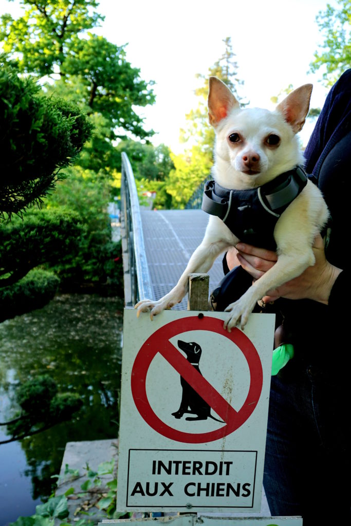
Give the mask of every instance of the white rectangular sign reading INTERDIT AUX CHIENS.
M 117 509 L 260 509 L 273 315 L 125 309 Z

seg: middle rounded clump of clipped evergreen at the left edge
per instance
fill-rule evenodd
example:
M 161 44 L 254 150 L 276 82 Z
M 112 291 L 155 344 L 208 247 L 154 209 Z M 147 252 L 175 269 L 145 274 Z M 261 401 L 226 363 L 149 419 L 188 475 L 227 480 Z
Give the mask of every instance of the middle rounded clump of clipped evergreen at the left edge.
M 0 289 L 13 285 L 29 270 L 71 255 L 83 230 L 79 216 L 68 210 L 27 211 L 0 226 Z M 11 295 L 11 292 L 8 292 Z

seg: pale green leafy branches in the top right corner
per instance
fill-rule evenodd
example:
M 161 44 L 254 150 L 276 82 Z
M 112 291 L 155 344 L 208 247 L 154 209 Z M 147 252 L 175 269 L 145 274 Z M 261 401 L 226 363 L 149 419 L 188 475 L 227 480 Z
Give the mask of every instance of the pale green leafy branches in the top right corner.
M 336 0 L 340 8 L 327 4 L 326 11 L 319 11 L 316 22 L 324 36 L 322 50 L 315 53 L 310 71 L 323 69 L 326 86 L 332 86 L 337 78 L 351 66 L 351 1 Z M 324 50 L 323 50 L 324 49 Z

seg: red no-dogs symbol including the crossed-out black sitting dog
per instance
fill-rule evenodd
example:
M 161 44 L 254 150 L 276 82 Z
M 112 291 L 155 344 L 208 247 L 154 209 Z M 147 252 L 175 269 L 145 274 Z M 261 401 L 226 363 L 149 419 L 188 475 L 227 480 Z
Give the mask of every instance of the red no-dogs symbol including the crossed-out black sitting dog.
M 187 358 L 169 341 L 186 331 L 210 331 L 232 340 L 243 353 L 249 369 L 250 381 L 246 399 L 237 411 L 202 376 L 198 363 L 201 352 L 196 342 L 177 340 L 178 347 Z M 196 347 L 197 346 L 197 347 Z M 163 422 L 154 412 L 146 394 L 146 375 L 155 356 L 159 353 L 179 373 L 183 388 L 182 400 L 173 417 L 180 419 L 184 413 L 195 417 L 186 420 L 204 420 L 208 417 L 225 423 L 224 426 L 208 432 L 184 432 Z M 258 403 L 263 385 L 263 371 L 258 352 L 253 343 L 239 329 L 227 332 L 223 321 L 218 318 L 190 316 L 167 323 L 150 336 L 139 350 L 132 369 L 131 389 L 135 406 L 142 418 L 159 434 L 171 440 L 185 443 L 204 443 L 220 440 L 243 425 Z M 176 401 L 179 404 L 179 401 Z M 188 411 L 188 407 L 190 410 Z M 222 420 L 212 416 L 213 410 Z

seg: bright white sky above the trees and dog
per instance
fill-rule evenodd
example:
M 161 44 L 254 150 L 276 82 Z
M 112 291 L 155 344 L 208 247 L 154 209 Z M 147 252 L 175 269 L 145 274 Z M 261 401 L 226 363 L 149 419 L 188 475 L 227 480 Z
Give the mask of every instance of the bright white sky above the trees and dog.
M 251 107 L 273 109 L 270 97 L 289 84 L 306 83 L 314 85 L 311 106 L 323 106 L 322 72 L 307 72 L 323 43 L 316 15 L 327 3 L 337 6 L 336 0 L 101 0 L 98 12 L 106 18 L 93 32 L 117 45 L 128 44 L 127 60 L 144 80 L 155 81 L 156 103 L 138 113 L 145 117 L 145 128 L 157 132 L 155 145 L 165 143 L 180 153 L 179 130 L 197 106 L 195 75 L 208 73 L 228 36 L 238 78 L 244 81 L 238 94 Z M 18 6 L 19 0 L 0 0 L 0 13 L 17 16 Z M 304 143 L 312 129 L 312 123 L 305 125 Z

